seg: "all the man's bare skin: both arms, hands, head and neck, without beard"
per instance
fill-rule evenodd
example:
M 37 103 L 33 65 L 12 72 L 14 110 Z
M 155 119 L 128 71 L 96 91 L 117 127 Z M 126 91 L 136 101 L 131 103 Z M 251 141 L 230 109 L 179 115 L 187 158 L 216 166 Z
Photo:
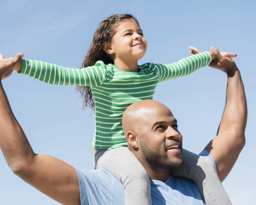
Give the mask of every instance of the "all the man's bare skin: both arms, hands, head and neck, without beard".
M 235 63 L 231 58 L 221 56 L 215 48 L 212 48 L 212 52 L 218 60 L 215 68 L 227 73 L 228 85 L 226 106 L 218 134 L 205 150 L 213 156 L 218 176 L 223 181 L 245 144 L 247 106 L 242 79 Z M 12 68 L 22 57 L 23 54 L 17 54 L 14 58 L 4 59 L 0 54 L 1 151 L 11 170 L 22 180 L 61 204 L 80 204 L 79 181 L 75 168 L 60 159 L 34 153 L 5 95 L 1 81 L 11 74 Z M 134 120 L 138 120 L 139 123 L 133 123 Z M 156 122 L 158 124 L 153 126 L 152 124 Z M 150 100 L 131 105 L 123 115 L 124 132 L 129 149 L 152 179 L 165 181 L 169 176 L 169 170 L 148 163 L 140 143 L 147 143 L 151 151 L 161 155 L 166 154 L 170 161 L 179 163 L 182 160 L 179 151 L 182 146 L 182 136 L 176 125 L 174 116 L 166 106 Z M 166 151 L 170 143 L 177 141 L 180 143 L 179 149 Z

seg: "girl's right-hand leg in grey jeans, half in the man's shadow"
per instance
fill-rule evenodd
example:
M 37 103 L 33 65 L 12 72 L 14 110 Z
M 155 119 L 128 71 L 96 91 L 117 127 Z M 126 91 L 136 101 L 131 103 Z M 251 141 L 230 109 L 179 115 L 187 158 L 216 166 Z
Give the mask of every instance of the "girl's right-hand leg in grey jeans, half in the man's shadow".
M 182 156 L 184 163 L 170 170 L 172 176 L 193 180 L 206 205 L 231 204 L 210 159 L 186 149 L 182 149 Z

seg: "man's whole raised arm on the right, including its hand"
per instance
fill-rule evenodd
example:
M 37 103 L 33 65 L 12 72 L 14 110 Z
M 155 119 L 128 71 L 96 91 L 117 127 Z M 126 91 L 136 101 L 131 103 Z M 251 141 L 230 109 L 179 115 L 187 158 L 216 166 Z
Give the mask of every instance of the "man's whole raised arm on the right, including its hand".
M 221 56 L 217 49 L 213 48 L 212 51 L 218 60 L 213 66 L 227 73 L 227 95 L 217 136 L 204 150 L 212 155 L 218 176 L 223 181 L 245 145 L 247 104 L 242 78 L 236 64 L 231 58 Z

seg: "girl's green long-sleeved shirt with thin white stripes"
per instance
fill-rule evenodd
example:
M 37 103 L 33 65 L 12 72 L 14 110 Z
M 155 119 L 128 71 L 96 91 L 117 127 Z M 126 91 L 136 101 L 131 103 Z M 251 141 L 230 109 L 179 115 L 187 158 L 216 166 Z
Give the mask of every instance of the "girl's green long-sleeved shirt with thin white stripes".
M 189 75 L 210 61 L 210 54 L 202 52 L 172 64 L 145 63 L 138 72 L 126 72 L 103 61 L 74 69 L 22 59 L 21 73 L 49 84 L 90 86 L 95 103 L 93 147 L 108 149 L 127 146 L 122 115 L 129 105 L 152 99 L 159 82 Z

